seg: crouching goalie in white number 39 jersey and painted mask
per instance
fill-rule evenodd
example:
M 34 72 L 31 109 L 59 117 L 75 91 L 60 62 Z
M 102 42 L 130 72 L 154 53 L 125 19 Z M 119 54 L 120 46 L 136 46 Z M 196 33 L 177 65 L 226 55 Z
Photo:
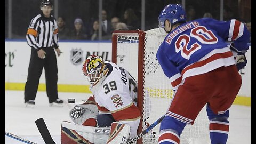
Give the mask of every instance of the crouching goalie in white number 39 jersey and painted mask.
M 62 122 L 61 143 L 119 144 L 135 137 L 141 119 L 137 81 L 126 69 L 96 55 L 85 60 L 82 71 L 93 95 L 70 109 L 73 123 Z

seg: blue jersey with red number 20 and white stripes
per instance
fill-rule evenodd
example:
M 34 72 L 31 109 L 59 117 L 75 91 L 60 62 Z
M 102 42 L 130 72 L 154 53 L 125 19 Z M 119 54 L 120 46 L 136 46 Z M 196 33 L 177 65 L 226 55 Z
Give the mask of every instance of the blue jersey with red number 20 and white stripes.
M 173 29 L 159 46 L 156 58 L 175 90 L 186 77 L 235 65 L 226 41 L 233 42 L 238 53 L 245 53 L 249 38 L 246 26 L 238 20 L 197 19 Z

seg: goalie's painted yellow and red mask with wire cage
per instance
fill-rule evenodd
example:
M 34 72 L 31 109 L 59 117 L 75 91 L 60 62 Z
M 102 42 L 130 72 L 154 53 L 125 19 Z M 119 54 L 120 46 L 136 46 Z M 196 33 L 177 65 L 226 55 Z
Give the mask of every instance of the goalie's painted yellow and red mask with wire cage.
M 92 86 L 96 85 L 99 81 L 103 81 L 108 73 L 106 63 L 101 57 L 96 55 L 90 55 L 85 60 L 82 70 L 84 77 Z

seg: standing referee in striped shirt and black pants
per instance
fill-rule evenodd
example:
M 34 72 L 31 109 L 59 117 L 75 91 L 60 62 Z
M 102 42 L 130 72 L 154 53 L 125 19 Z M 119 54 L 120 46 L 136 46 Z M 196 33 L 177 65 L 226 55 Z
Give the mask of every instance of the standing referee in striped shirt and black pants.
M 58 98 L 58 67 L 55 51 L 61 52 L 58 45 L 58 26 L 51 15 L 53 4 L 50 0 L 41 2 L 41 13 L 33 18 L 27 31 L 27 42 L 31 47 L 28 77 L 25 85 L 25 106 L 34 107 L 39 79 L 44 68 L 46 92 L 50 106 L 63 106 Z M 54 51 L 55 49 L 55 51 Z

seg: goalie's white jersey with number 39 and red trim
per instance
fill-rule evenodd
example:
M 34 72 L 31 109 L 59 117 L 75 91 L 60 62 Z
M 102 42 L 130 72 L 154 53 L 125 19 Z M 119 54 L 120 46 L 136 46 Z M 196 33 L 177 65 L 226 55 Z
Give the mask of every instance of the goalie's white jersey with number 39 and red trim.
M 137 108 L 137 82 L 127 70 L 112 62 L 105 62 L 106 78 L 90 87 L 100 114 L 111 114 L 115 121 L 130 125 L 130 137 L 135 137 L 140 110 Z

